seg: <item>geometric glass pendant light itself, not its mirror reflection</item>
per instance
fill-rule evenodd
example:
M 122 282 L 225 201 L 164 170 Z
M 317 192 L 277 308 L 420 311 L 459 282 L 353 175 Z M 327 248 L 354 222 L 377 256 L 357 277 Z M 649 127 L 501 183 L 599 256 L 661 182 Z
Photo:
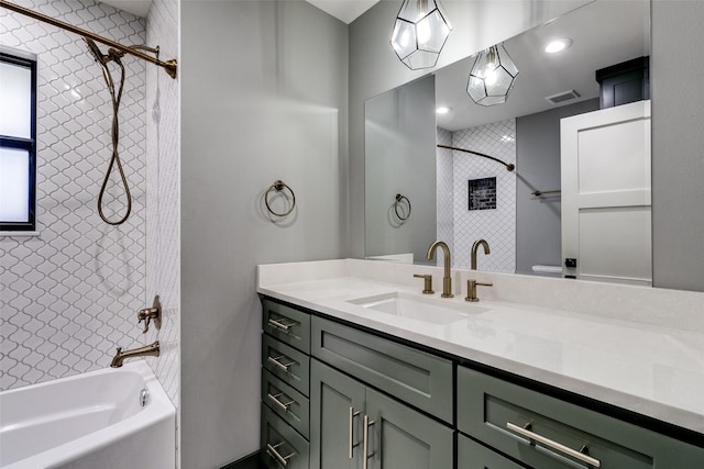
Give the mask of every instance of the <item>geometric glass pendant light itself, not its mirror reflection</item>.
M 435 67 L 450 30 L 438 0 L 404 0 L 394 23 L 392 47 L 411 70 Z

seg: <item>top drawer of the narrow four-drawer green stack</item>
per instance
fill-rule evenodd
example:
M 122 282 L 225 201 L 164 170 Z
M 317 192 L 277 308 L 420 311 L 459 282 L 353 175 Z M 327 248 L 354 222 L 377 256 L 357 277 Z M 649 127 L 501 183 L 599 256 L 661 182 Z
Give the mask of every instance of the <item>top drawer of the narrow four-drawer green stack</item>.
M 310 314 L 268 299 L 262 300 L 262 330 L 292 347 L 310 354 Z

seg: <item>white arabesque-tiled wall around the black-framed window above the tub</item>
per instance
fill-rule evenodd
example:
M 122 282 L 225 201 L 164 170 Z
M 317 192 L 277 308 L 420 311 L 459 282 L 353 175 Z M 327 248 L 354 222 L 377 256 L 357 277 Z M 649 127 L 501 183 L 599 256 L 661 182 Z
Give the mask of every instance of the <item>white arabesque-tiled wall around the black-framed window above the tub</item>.
M 16 3 L 125 44 L 145 21 L 92 0 Z M 117 346 L 139 346 L 144 290 L 144 63 L 124 57 L 120 156 L 132 215 L 103 223 L 97 198 L 108 168 L 112 107 L 79 36 L 0 9 L 0 44 L 38 55 L 37 231 L 0 237 L 0 389 L 102 368 Z M 106 47 L 101 46 L 106 51 Z M 113 77 L 119 69 L 111 64 Z M 124 210 L 113 170 L 106 213 Z

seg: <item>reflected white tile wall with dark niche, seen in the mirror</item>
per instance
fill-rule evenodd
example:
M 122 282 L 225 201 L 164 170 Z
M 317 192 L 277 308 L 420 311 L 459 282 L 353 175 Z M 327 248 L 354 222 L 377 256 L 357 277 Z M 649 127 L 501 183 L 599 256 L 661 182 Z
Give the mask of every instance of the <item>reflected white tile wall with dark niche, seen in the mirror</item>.
M 484 153 L 516 164 L 516 120 L 495 122 L 452 133 L 452 146 Z M 454 261 L 469 269 L 474 241 L 488 242 L 491 254 L 480 248 L 477 269 L 516 271 L 516 172 L 487 158 L 453 150 Z M 471 179 L 496 177 L 496 209 L 469 210 Z

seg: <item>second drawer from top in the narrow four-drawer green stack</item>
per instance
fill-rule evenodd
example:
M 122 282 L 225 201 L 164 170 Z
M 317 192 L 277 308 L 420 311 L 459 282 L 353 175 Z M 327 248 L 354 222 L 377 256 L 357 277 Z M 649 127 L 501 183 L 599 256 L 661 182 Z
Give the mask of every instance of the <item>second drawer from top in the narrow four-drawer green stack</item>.
M 304 395 L 308 395 L 310 358 L 304 353 L 263 334 L 262 366 Z

